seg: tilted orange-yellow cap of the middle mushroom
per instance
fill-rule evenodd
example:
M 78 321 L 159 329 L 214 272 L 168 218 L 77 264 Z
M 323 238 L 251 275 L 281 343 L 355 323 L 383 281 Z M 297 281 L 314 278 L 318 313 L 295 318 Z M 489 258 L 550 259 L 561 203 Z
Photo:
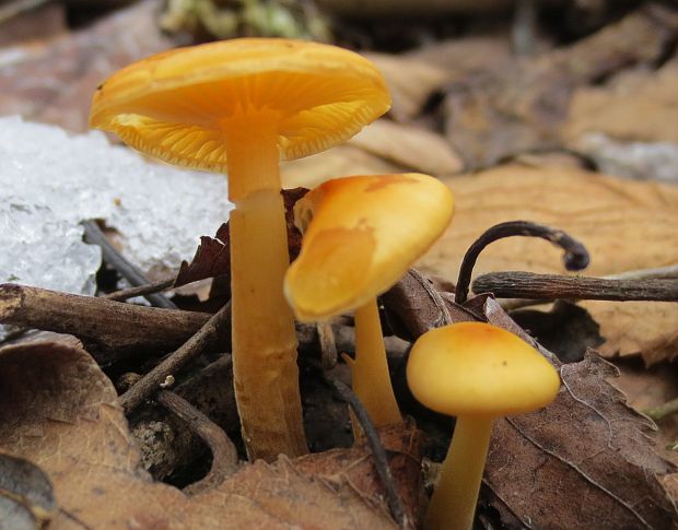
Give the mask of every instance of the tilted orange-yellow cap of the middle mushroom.
M 304 237 L 284 293 L 296 318 L 323 320 L 388 290 L 445 231 L 449 189 L 416 173 L 329 180 L 297 201 Z

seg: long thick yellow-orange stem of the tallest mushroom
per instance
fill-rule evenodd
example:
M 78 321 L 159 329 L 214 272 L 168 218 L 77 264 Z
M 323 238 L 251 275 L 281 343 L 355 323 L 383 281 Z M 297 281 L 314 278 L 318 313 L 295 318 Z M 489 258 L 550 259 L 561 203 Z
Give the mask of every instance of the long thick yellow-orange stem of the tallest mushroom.
M 282 294 L 290 264 L 280 196 L 277 116 L 224 123 L 229 168 L 233 381 L 252 460 L 307 452 L 294 317 Z M 273 119 L 272 119 L 273 118 Z

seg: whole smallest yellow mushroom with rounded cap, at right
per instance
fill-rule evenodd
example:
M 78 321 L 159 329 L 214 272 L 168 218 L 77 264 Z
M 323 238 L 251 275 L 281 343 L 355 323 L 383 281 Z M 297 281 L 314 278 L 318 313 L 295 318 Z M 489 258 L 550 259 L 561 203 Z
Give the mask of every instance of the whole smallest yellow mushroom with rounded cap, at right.
M 546 407 L 560 377 L 537 350 L 484 322 L 458 322 L 421 335 L 407 382 L 431 410 L 457 416 L 424 529 L 470 530 L 495 417 Z

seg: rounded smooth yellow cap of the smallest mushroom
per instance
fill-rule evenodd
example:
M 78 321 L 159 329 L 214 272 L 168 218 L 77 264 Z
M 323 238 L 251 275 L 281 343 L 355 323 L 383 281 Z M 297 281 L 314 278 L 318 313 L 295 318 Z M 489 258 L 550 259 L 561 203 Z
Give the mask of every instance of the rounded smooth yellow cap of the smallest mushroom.
M 537 350 L 484 322 L 421 335 L 410 352 L 407 382 L 420 403 L 449 415 L 529 412 L 553 401 L 560 388 L 558 372 Z

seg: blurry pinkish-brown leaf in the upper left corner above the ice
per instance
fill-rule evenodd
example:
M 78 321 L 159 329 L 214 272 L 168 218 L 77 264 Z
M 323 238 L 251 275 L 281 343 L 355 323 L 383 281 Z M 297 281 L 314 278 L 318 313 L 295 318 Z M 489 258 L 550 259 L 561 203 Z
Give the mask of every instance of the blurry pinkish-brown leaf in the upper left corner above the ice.
M 144 0 L 91 27 L 0 55 L 0 114 L 87 129 L 96 86 L 119 68 L 172 46 L 154 22 L 159 0 Z

